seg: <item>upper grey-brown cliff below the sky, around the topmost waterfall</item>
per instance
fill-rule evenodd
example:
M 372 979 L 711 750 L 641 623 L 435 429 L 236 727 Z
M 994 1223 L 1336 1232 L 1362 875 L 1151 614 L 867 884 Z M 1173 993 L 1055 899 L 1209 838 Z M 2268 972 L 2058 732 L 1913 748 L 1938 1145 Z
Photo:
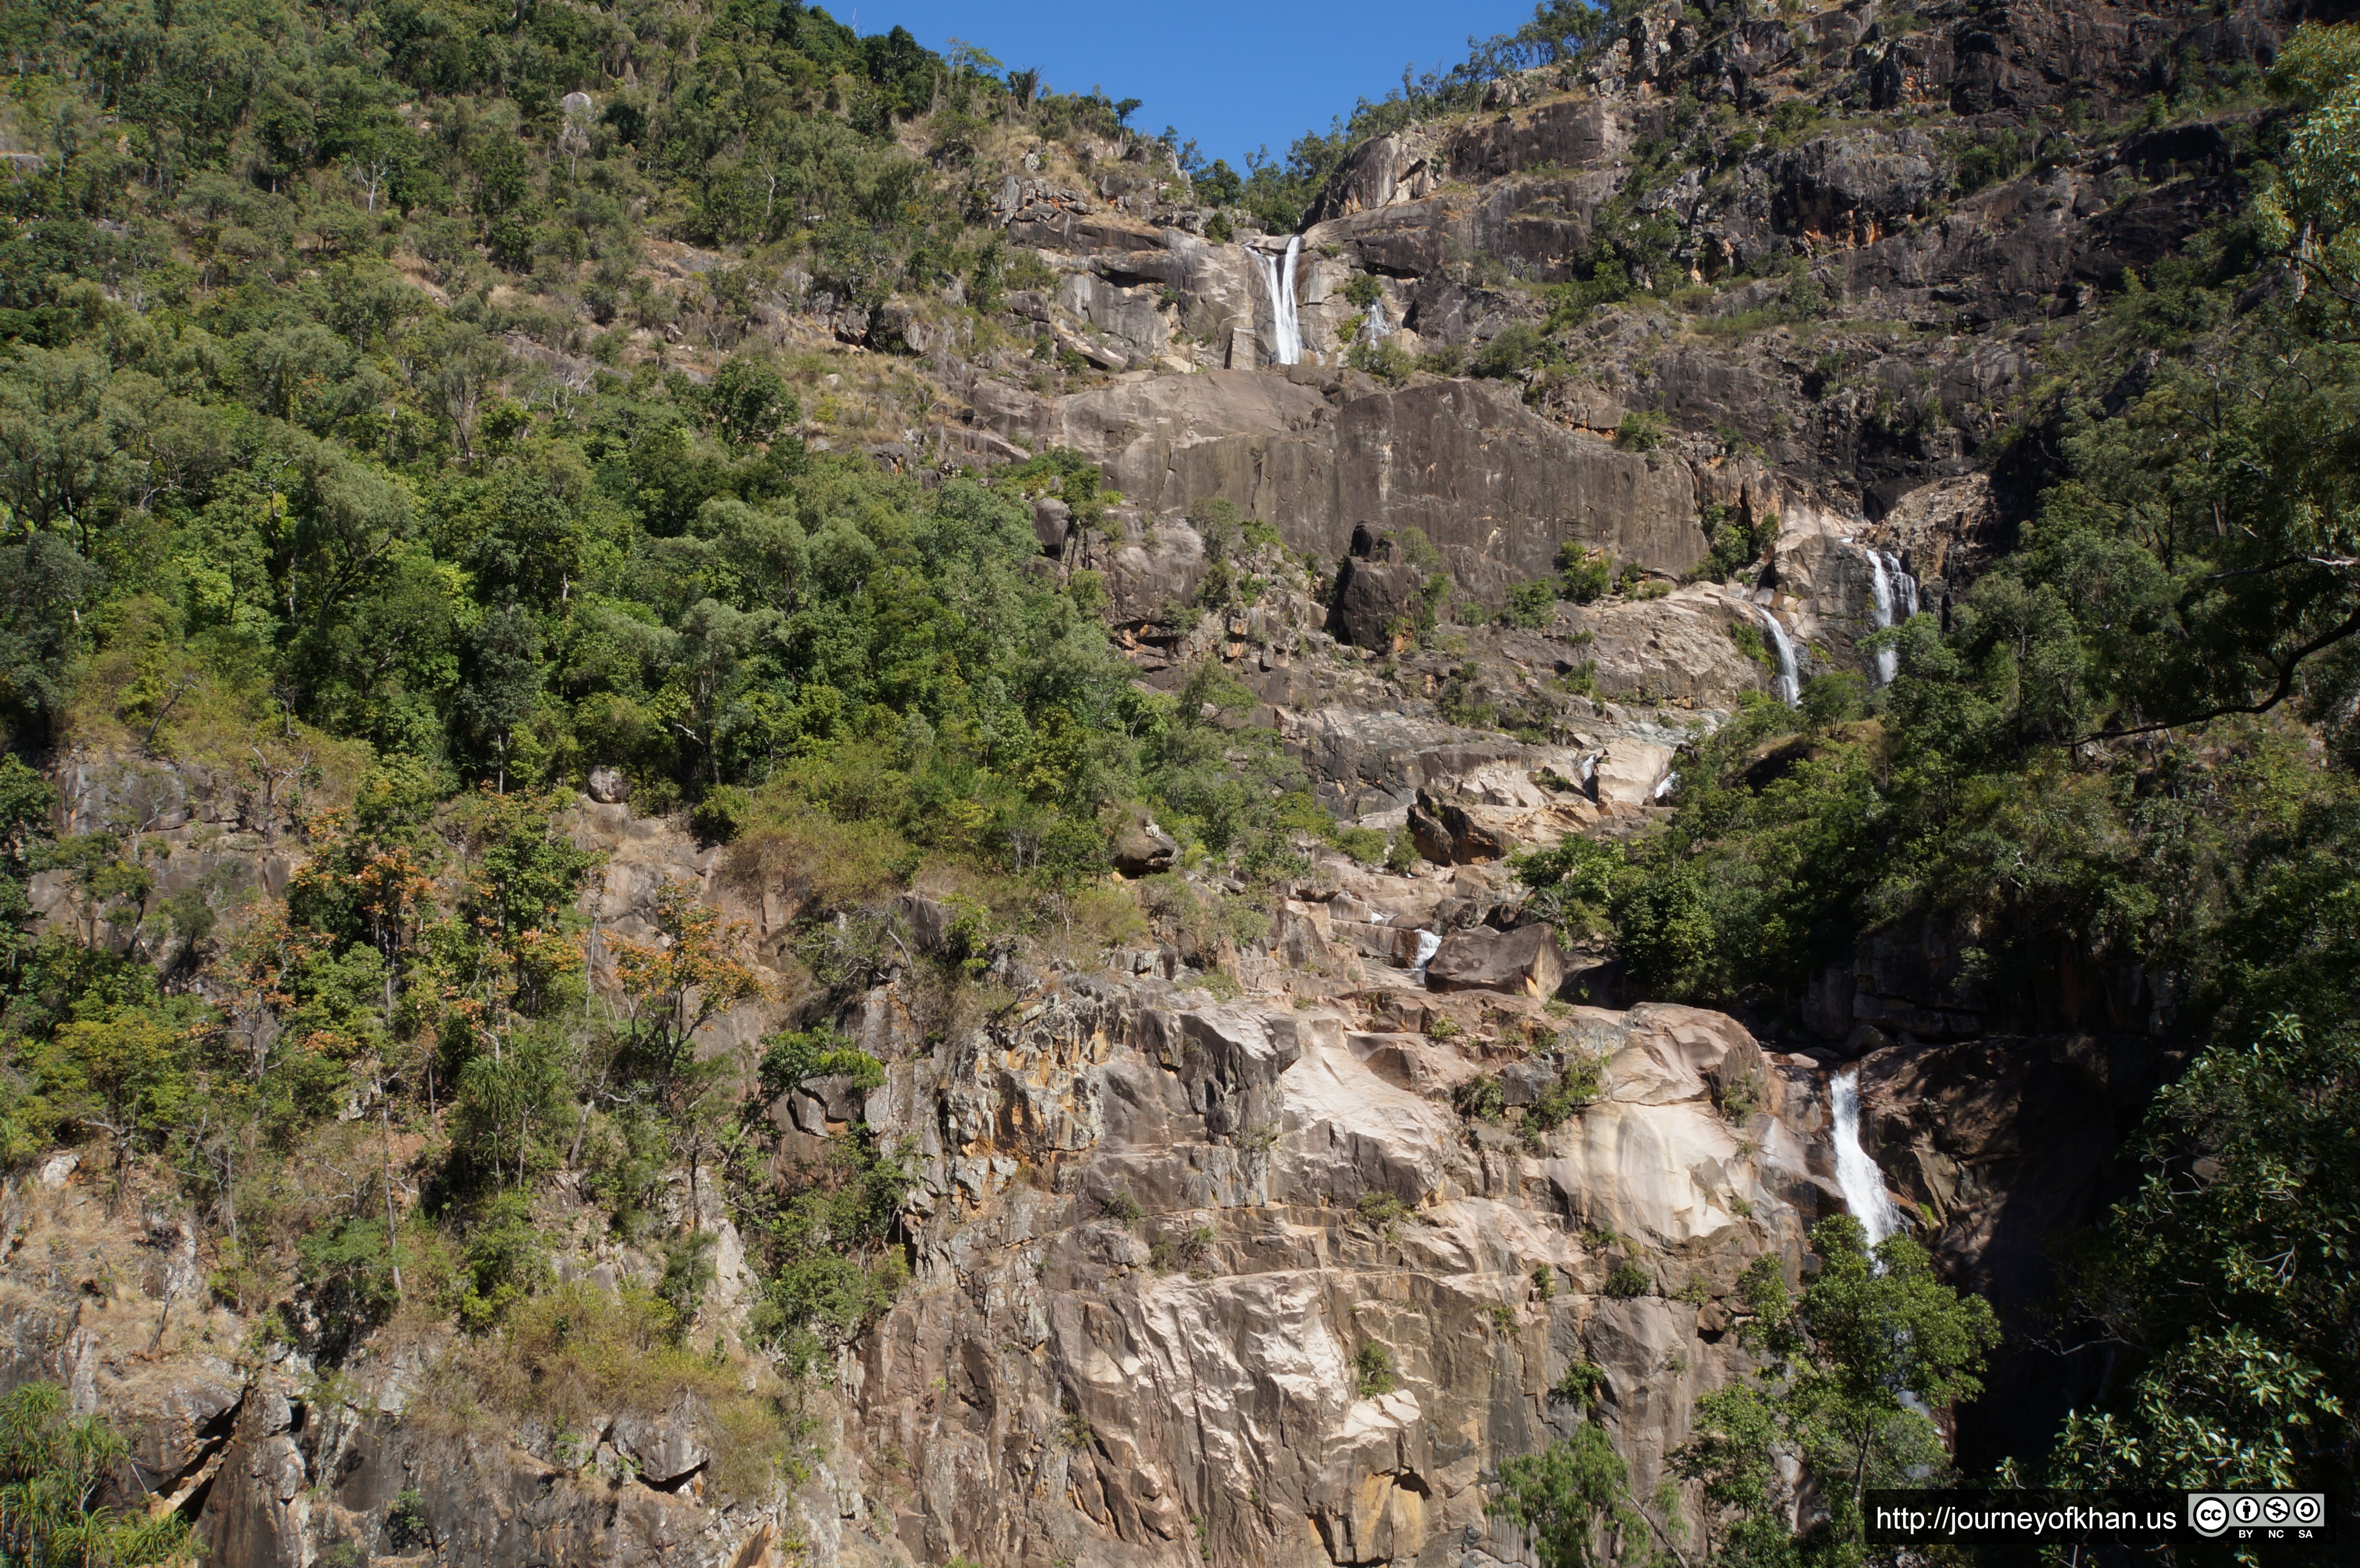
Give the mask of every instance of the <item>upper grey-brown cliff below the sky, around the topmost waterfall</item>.
M 1215 246 L 1189 208 L 1015 191 L 1010 234 L 1064 279 L 1036 331 L 1119 375 L 1038 394 L 953 371 L 961 418 L 979 449 L 1104 460 L 1147 517 L 1225 498 L 1322 557 L 1357 524 L 1418 527 L 1487 602 L 1565 541 L 1683 574 L 1711 545 L 1709 508 L 1775 517 L 1775 602 L 1843 661 L 1869 628 L 1867 576 L 1831 553 L 1893 553 L 1940 609 L 2011 538 L 2018 465 L 1994 442 L 2058 326 L 2235 203 L 2254 111 L 2124 123 L 2185 61 L 2268 64 L 2294 19 L 2013 5 L 1921 21 L 1862 0 L 1699 26 L 1652 7 L 1581 66 L 1496 83 L 1484 113 L 1348 158 L 1303 234 L 1300 366 L 1270 364 L 1248 257 L 1277 241 Z M 1402 364 L 1442 364 L 1536 324 L 1539 288 L 1588 276 L 1602 213 L 1659 224 L 1647 281 L 1694 298 L 1595 314 L 1574 378 L 1390 387 L 1340 368 L 1378 333 Z M 1355 279 L 1374 305 L 1345 298 Z M 1671 439 L 1605 439 L 1628 411 L 1671 416 Z

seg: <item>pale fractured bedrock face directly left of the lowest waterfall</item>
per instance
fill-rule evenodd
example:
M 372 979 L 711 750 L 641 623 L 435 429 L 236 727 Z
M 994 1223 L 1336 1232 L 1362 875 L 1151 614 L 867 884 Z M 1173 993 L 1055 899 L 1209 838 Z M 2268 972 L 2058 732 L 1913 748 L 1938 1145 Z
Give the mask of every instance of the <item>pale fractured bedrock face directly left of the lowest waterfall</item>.
M 918 1282 L 857 1372 L 868 1452 L 904 1457 L 894 1537 L 920 1561 L 1513 1556 L 1482 1481 L 1572 1419 L 1548 1389 L 1574 1360 L 1605 1370 L 1605 1419 L 1652 1485 L 1692 1396 L 1742 1365 L 1737 1270 L 1794 1259 L 1829 1202 L 1810 1133 L 1779 1119 L 1808 1124 L 1810 1079 L 1690 1008 L 1584 1008 L 1534 1051 L 1539 1004 L 1484 997 L 1435 999 L 1466 1004 L 1449 1046 L 1149 992 L 977 1041 L 996 1105 L 923 1117 L 972 1185 L 927 1216 Z M 1565 1051 L 1607 1058 L 1576 1124 L 1539 1150 L 1463 1131 L 1454 1082 L 1546 1079 Z M 894 1070 L 897 1119 L 946 1065 Z M 1779 1115 L 1732 1126 L 1716 1096 L 1746 1074 Z M 1005 1131 L 1083 1124 L 1060 1148 Z M 1602 1294 L 1626 1256 L 1706 1306 Z M 1364 1386 L 1369 1346 L 1395 1386 Z

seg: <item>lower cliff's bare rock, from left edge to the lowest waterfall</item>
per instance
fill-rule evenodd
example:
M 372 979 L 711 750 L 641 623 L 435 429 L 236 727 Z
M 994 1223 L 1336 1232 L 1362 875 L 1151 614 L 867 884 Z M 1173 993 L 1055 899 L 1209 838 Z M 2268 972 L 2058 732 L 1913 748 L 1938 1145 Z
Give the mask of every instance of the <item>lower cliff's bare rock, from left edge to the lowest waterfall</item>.
M 1517 763 L 1428 758 L 1461 784 Z M 767 919 L 623 805 L 585 803 L 578 834 L 609 852 L 607 930 L 666 878 Z M 1227 999 L 1171 947 L 1010 966 L 949 1037 L 916 975 L 859 994 L 845 1023 L 887 1082 L 791 1093 L 774 1162 L 847 1119 L 906 1143 L 911 1280 L 805 1389 L 791 1492 L 727 1495 L 713 1389 L 503 1417 L 451 1393 L 467 1344 L 404 1318 L 330 1360 L 321 1325 L 241 1315 L 168 1202 L 73 1157 L 9 1195 L 12 1374 L 132 1429 L 139 1483 L 224 1563 L 1515 1559 L 1484 1483 L 1574 1419 L 1567 1367 L 1602 1372 L 1600 1419 L 1652 1488 L 1694 1396 L 1746 1365 L 1737 1275 L 1794 1273 L 1838 1200 L 1812 1063 L 1716 1013 L 1555 1001 L 1553 945 L 1536 968 L 1477 923 L 1501 893 L 1482 869 L 1315 867 L 1227 952 L 1248 987 Z M 897 919 L 920 949 L 946 930 L 923 897 Z M 1458 978 L 1409 973 L 1418 928 L 1454 926 Z M 1458 1110 L 1477 1077 L 1529 1105 L 1581 1065 L 1595 1103 L 1546 1133 Z M 545 1223 L 583 1289 L 658 1273 L 576 1235 L 564 1197 Z M 736 1346 L 748 1280 L 720 1233 L 694 1341 Z

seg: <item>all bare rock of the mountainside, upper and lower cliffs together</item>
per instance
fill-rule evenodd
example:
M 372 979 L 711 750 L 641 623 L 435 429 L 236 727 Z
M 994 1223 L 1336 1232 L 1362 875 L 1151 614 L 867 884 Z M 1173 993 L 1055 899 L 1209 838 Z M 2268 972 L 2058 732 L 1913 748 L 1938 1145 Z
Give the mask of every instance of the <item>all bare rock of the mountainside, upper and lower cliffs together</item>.
M 1600 1370 L 1635 1495 L 1694 1398 L 1746 1372 L 1737 1275 L 1758 1256 L 1796 1273 L 1838 1202 L 1838 1051 L 1864 1056 L 1871 1152 L 1954 1278 L 2034 1294 L 2039 1240 L 2103 1200 L 2169 1065 L 2138 975 L 1997 1018 L 1959 961 L 1971 933 L 1886 930 L 1822 978 L 1812 1041 L 1782 1053 L 1713 1013 L 1591 1006 L 1612 973 L 1525 923 L 1503 869 L 1657 819 L 1680 746 L 1775 690 L 1765 614 L 1794 673 L 1874 678 L 1857 645 L 1890 619 L 1881 574 L 1942 614 L 2006 548 L 2011 404 L 2084 290 L 2235 198 L 2251 111 L 2074 125 L 2122 120 L 2190 52 L 2266 61 L 2287 26 L 2277 5 L 2030 0 L 1902 21 L 1855 0 L 1699 28 L 1659 5 L 1579 68 L 1499 83 L 1480 116 L 1371 139 L 1303 234 L 1305 364 L 1270 364 L 1248 255 L 1281 241 L 1215 243 L 1201 210 L 1116 175 L 1010 179 L 994 205 L 1055 279 L 1010 298 L 1010 326 L 1104 371 L 1090 385 L 805 300 L 925 359 L 956 409 L 946 453 L 1102 463 L 1121 501 L 1095 534 L 1043 501 L 1043 569 L 1100 571 L 1142 682 L 1222 664 L 1322 803 L 1399 834 L 1416 869 L 1324 852 L 1258 933 L 1166 921 L 1093 961 L 1001 952 L 965 1011 L 930 978 L 951 916 L 906 897 L 899 959 L 833 1018 L 885 1082 L 772 1105 L 774 1169 L 861 1122 L 918 1171 L 894 1235 L 909 1285 L 788 1389 L 795 1485 L 732 1481 L 729 1400 L 779 1381 L 729 1219 L 691 1329 L 720 1372 L 498 1405 L 448 1325 L 394 1315 L 330 1353 L 321 1320 L 243 1313 L 168 1204 L 59 1157 L 7 1195 L 5 1377 L 57 1377 L 125 1424 L 137 1483 L 231 1568 L 1527 1561 L 1484 1504 L 1503 1459 L 1572 1422 L 1569 1367 Z M 2082 116 L 2041 118 L 2063 106 Z M 1777 130 L 1739 144 L 1739 123 Z M 1650 283 L 1669 298 L 1581 319 L 1574 373 L 1442 373 L 1541 324 L 1541 290 L 1591 279 L 1602 224 L 1635 220 L 1666 236 Z M 1395 373 L 1348 368 L 1381 331 Z M 1404 368 L 1418 354 L 1440 371 Z M 1291 555 L 1215 562 L 1206 501 Z M 1732 524 L 1763 538 L 1756 581 L 1673 588 Z M 1440 593 L 1407 545 L 1355 548 L 1411 529 Z M 1494 623 L 1567 543 L 1654 586 Z M 1199 614 L 1215 564 L 1258 588 Z M 1421 602 L 1440 626 L 1411 647 Z M 68 812 L 130 812 L 163 845 L 158 897 L 205 878 L 276 895 L 295 862 L 271 777 L 83 758 L 61 782 Z M 762 864 L 607 796 L 573 831 L 607 852 L 599 930 L 649 935 L 654 890 L 687 881 L 784 963 L 800 895 Z M 1147 824 L 1138 843 L 1126 869 L 1168 864 Z M 76 919 L 61 878 L 35 902 Z M 701 1048 L 779 1023 L 739 1008 Z M 1595 1100 L 1548 1131 L 1468 1110 L 1588 1067 Z M 727 1211 L 699 1183 L 670 1176 L 673 1223 Z M 661 1278 L 647 1247 L 573 1230 L 578 1202 L 562 1185 L 536 1216 L 571 1289 L 621 1301 Z M 1971 1415 L 1968 1443 L 1978 1419 L 2011 1417 Z

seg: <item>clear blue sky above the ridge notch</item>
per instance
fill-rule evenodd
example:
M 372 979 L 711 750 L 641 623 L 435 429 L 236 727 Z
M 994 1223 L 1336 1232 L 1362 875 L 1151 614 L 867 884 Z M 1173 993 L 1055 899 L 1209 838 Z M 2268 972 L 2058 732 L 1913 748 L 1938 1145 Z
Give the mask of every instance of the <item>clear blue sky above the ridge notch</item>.
M 1147 132 L 1178 125 L 1206 158 L 1244 156 L 1270 144 L 1284 156 L 1305 130 L 1326 130 L 1362 94 L 1385 97 L 1402 66 L 1418 71 L 1466 59 L 1470 33 L 1522 26 L 1532 0 L 1456 5 L 1300 5 L 1289 0 L 840 0 L 828 14 L 861 33 L 894 24 L 932 50 L 963 38 L 1010 68 L 1041 66 L 1057 92 L 1104 87 L 1142 99 L 1130 123 Z

